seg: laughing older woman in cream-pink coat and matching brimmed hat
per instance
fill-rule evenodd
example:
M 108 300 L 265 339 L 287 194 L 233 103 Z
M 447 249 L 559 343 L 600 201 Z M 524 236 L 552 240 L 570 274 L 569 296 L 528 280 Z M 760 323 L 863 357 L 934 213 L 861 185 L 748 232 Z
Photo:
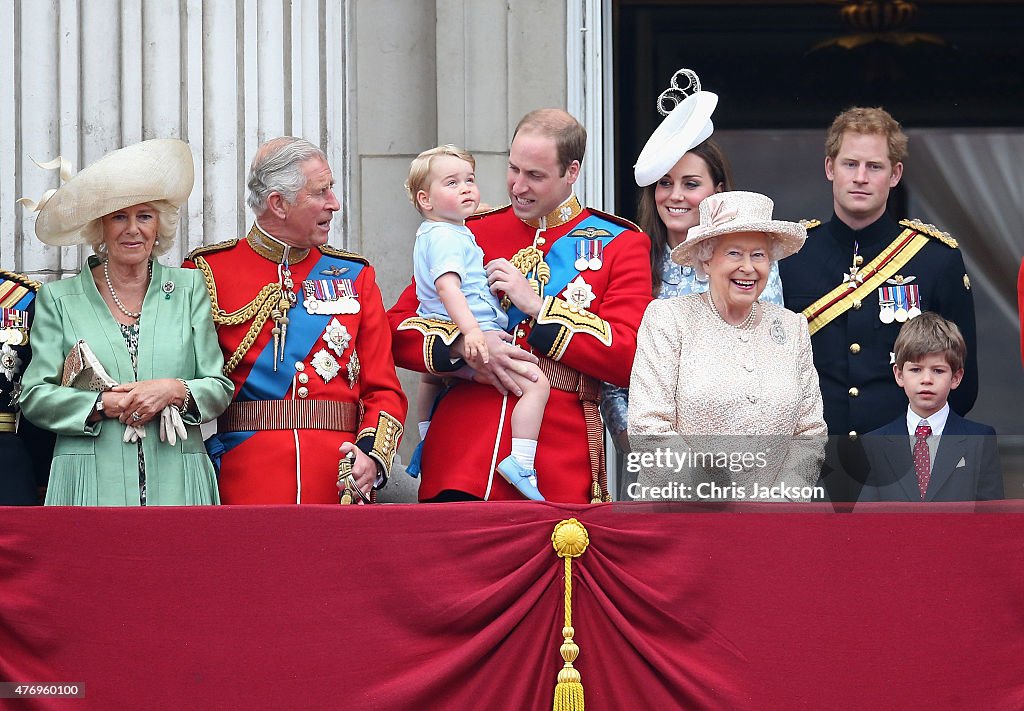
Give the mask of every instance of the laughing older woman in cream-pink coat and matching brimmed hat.
M 757 193 L 713 195 L 672 250 L 709 289 L 652 301 L 644 313 L 630 381 L 631 444 L 668 436 L 658 441 L 715 456 L 688 462 L 693 480 L 649 471 L 641 486 L 685 482 L 692 489 L 675 495 L 693 499 L 818 495 L 810 485 L 826 429 L 807 322 L 759 300 L 773 264 L 797 252 L 807 232 L 772 219 L 772 207 Z

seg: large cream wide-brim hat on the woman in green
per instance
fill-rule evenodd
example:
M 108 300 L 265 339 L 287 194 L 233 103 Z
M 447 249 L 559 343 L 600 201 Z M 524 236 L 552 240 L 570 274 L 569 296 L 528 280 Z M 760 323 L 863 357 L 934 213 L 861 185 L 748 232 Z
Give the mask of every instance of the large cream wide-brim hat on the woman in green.
M 112 151 L 49 197 L 36 237 L 54 247 L 81 244 L 82 228 L 97 217 L 157 200 L 180 207 L 195 183 L 191 151 L 182 140 L 153 138 Z

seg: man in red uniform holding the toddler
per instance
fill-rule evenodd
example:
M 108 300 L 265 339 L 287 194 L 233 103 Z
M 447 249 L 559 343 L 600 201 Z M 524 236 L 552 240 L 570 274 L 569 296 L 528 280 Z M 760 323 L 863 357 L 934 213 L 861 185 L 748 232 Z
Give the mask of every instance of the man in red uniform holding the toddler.
M 520 498 L 495 467 L 511 450 L 515 384 L 507 372 L 534 359 L 551 381 L 537 449 L 541 493 L 549 501 L 610 500 L 600 381 L 629 384 L 650 301 L 650 240 L 625 219 L 580 205 L 572 185 L 586 147 L 587 131 L 565 112 L 527 114 L 509 150 L 512 204 L 466 221 L 492 290 L 505 297 L 512 343 L 485 334 L 489 362 L 470 364 L 476 380 L 453 380 L 437 404 L 424 443 L 422 501 Z M 417 305 L 414 283 L 388 311 L 395 362 L 455 372 L 464 365 L 458 330 L 418 317 Z

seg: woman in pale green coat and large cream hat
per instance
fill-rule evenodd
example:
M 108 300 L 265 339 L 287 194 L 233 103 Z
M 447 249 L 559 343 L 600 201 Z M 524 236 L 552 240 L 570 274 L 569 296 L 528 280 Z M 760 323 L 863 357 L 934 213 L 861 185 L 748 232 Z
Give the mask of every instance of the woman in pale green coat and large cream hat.
M 233 388 L 210 297 L 200 273 L 155 258 L 173 244 L 193 171 L 184 142 L 145 140 L 74 177 L 62 170 L 67 182 L 35 206 L 42 242 L 95 252 L 36 299 L 22 408 L 57 434 L 47 504 L 219 502 L 199 425 L 224 411 Z M 65 360 L 73 349 L 78 366 Z M 61 384 L 83 366 L 92 383 Z

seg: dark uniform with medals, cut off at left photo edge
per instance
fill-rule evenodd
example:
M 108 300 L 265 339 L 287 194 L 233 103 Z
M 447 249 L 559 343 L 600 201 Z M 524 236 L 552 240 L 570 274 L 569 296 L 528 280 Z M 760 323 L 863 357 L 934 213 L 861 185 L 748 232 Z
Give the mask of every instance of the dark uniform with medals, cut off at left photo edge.
M 53 434 L 20 417 L 18 407 L 38 290 L 38 282 L 0 269 L 0 506 L 39 503 L 53 454 Z

